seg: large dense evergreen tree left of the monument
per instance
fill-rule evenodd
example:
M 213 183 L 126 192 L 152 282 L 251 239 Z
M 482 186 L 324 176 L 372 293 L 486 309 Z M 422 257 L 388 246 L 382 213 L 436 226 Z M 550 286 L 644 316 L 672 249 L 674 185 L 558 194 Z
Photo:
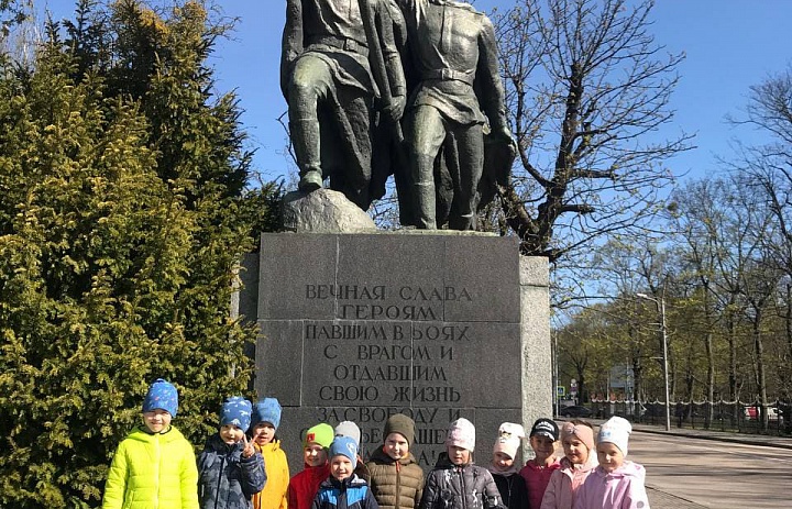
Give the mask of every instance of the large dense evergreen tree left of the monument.
M 34 70 L 0 63 L 0 507 L 99 506 L 157 377 L 202 443 L 249 387 L 234 269 L 277 222 L 235 97 L 211 95 L 228 25 L 81 0 L 65 27 Z

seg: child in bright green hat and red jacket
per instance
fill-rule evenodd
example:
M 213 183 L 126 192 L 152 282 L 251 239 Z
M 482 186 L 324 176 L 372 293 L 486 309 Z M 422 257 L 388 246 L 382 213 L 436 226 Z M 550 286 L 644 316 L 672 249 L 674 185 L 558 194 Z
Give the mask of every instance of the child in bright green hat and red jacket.
M 302 472 L 292 477 L 288 487 L 288 509 L 310 509 L 319 485 L 330 475 L 328 447 L 333 440 L 330 424 L 310 428 L 302 439 Z

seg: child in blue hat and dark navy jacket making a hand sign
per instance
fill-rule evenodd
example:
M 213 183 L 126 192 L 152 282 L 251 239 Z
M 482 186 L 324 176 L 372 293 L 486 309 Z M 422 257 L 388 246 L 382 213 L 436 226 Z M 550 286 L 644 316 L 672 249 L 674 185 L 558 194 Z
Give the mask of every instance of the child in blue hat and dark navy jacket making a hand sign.
M 245 435 L 252 407 L 242 397 L 228 398 L 220 413 L 220 430 L 209 436 L 198 455 L 202 509 L 251 508 L 251 497 L 264 488 L 264 460 Z

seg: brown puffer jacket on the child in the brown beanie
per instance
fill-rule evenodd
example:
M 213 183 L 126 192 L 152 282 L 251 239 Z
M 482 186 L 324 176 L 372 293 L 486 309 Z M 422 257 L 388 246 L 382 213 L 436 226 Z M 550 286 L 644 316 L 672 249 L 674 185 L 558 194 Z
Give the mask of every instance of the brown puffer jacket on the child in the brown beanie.
M 424 468 L 410 453 L 398 462 L 382 447 L 366 463 L 369 486 L 380 509 L 415 509 L 424 495 Z

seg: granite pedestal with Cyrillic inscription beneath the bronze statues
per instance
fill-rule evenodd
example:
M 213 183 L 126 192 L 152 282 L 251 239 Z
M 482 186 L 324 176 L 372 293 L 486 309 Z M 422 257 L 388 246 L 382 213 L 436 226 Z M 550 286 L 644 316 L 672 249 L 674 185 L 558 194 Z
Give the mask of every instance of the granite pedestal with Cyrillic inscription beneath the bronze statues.
M 528 429 L 550 416 L 547 261 L 520 258 L 514 239 L 264 234 L 245 266 L 254 388 L 284 407 L 277 434 L 293 474 L 317 422 L 354 421 L 367 458 L 387 417 L 406 413 L 428 467 L 458 417 L 476 425 L 486 464 L 501 422 Z

